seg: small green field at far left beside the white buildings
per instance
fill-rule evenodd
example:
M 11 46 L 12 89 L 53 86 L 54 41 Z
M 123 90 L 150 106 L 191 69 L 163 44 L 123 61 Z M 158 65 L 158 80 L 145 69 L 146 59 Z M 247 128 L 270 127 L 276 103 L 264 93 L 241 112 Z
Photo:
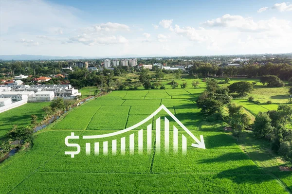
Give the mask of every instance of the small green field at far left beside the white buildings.
M 19 127 L 25 127 L 31 122 L 31 115 L 35 114 L 38 117 L 38 121 L 43 119 L 42 107 L 48 106 L 50 103 L 27 103 L 22 106 L 18 106 L 11 110 L 0 113 L 0 142 L 13 127 L 17 124 Z

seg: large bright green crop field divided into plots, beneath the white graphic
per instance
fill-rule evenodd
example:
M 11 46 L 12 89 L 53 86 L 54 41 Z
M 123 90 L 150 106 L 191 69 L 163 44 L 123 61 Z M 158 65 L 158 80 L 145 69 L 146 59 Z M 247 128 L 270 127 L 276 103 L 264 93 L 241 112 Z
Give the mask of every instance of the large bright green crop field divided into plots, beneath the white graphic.
M 185 78 L 185 81 L 188 86 L 184 89 L 171 89 L 165 85 L 166 89 L 113 91 L 73 108 L 62 120 L 38 131 L 31 149 L 18 152 L 0 163 L 0 194 L 292 193 L 292 172 L 280 172 L 276 167 L 269 172 L 264 170 L 274 162 L 269 160 L 269 156 L 259 158 L 256 155 L 258 141 L 238 142 L 224 132 L 219 123 L 204 120 L 195 101 L 204 90 L 205 83 L 200 80 L 201 88 L 192 88 L 194 79 Z M 277 108 L 276 104 L 255 105 L 247 102 L 247 98 L 235 98 L 233 101 L 244 106 L 252 115 Z M 195 137 L 203 135 L 206 149 L 192 147 L 195 143 L 192 137 L 164 110 L 123 134 L 98 140 L 82 139 L 83 136 L 115 133 L 129 128 L 162 105 Z M 164 125 L 167 121 L 170 126 L 168 136 Z M 148 127 L 152 129 L 150 135 L 147 134 Z M 161 130 L 160 139 L 154 132 L 158 128 Z M 77 143 L 81 149 L 74 158 L 64 154 L 65 151 L 76 150 L 76 147 L 67 147 L 64 143 L 72 132 L 79 138 L 70 139 L 69 143 Z M 135 142 L 133 147 L 131 137 Z M 136 143 L 139 137 L 143 140 L 142 149 Z M 168 146 L 164 143 L 166 137 Z M 126 140 L 125 153 L 122 151 L 123 138 Z M 116 151 L 113 151 L 113 141 L 116 142 Z M 183 149 L 183 141 L 187 142 L 186 150 Z M 98 155 L 94 149 L 96 142 L 99 143 Z M 90 148 L 88 154 L 85 151 L 87 145 Z

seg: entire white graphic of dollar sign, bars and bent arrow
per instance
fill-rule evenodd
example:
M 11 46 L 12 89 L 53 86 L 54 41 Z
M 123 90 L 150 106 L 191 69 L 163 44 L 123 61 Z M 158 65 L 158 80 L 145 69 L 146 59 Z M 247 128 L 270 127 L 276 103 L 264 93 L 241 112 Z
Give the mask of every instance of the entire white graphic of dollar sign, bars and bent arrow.
M 203 139 L 203 136 L 200 135 L 200 140 L 196 138 L 184 125 L 181 123 L 164 105 L 160 106 L 157 110 L 155 110 L 151 115 L 149 115 L 146 119 L 143 121 L 134 124 L 131 127 L 128 127 L 124 130 L 116 131 L 113 133 L 108 133 L 108 134 L 102 134 L 102 135 L 91 135 L 91 136 L 83 136 L 83 139 L 101 139 L 101 138 L 108 138 L 116 135 L 121 135 L 123 133 L 126 133 L 132 129 L 138 128 L 142 124 L 146 123 L 150 119 L 152 119 L 155 115 L 157 115 L 161 110 L 164 110 L 176 123 L 178 123 L 183 130 L 196 142 L 192 143 L 192 147 L 197 147 L 201 149 L 206 149 L 205 147 L 205 142 Z M 161 149 L 161 128 L 160 128 L 160 117 L 156 119 L 156 131 L 155 131 L 155 150 L 157 153 L 160 153 Z M 147 154 L 151 154 L 152 151 L 152 123 L 147 125 L 146 129 L 146 146 L 147 146 Z M 80 146 L 76 143 L 68 143 L 69 139 L 79 139 L 79 136 L 74 136 L 74 133 L 71 133 L 71 136 L 67 136 L 65 138 L 65 144 L 70 147 L 77 147 L 77 151 L 73 152 L 65 152 L 65 155 L 71 155 L 71 158 L 74 158 L 74 155 L 77 155 L 80 153 Z M 118 140 L 119 141 L 119 140 Z M 143 154 L 143 129 L 138 131 L 138 134 L 130 134 L 129 137 L 127 138 L 127 141 L 129 143 L 129 154 L 133 155 L 134 154 L 134 149 L 135 149 L 135 141 L 138 141 L 138 153 L 141 155 Z M 126 153 L 126 137 L 122 137 L 120 139 L 121 142 L 121 155 L 125 155 Z M 164 152 L 167 154 L 169 152 L 169 120 L 164 117 Z M 111 142 L 112 145 L 112 150 L 111 154 L 116 155 L 117 154 L 117 139 L 112 140 Z M 101 142 L 103 145 L 103 155 L 108 155 L 108 141 L 103 141 Z M 94 155 L 99 155 L 99 142 L 94 143 Z M 90 155 L 91 152 L 91 147 L 90 143 L 86 143 L 86 155 Z M 177 154 L 179 149 L 179 131 L 177 127 L 173 126 L 173 153 Z M 184 135 L 182 135 L 182 153 L 183 155 L 186 155 L 187 151 L 187 139 Z

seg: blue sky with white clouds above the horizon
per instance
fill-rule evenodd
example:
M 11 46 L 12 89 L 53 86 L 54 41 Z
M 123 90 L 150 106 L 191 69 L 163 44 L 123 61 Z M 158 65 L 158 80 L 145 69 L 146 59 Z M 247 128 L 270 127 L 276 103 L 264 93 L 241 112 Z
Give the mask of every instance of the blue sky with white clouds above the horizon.
M 292 52 L 292 2 L 0 0 L 0 55 Z

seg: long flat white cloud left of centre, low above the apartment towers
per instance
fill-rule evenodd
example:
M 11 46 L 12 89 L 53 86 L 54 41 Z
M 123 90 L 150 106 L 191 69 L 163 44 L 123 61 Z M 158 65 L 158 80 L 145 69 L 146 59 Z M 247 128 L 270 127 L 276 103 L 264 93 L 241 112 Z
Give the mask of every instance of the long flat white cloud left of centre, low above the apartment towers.
M 123 44 L 127 43 L 128 40 L 124 36 L 118 35 L 111 35 L 111 36 L 93 36 L 93 35 L 77 35 L 69 38 L 70 41 L 68 43 L 78 42 L 85 45 L 93 46 L 96 44 L 99 45 L 110 45 L 110 44 Z

